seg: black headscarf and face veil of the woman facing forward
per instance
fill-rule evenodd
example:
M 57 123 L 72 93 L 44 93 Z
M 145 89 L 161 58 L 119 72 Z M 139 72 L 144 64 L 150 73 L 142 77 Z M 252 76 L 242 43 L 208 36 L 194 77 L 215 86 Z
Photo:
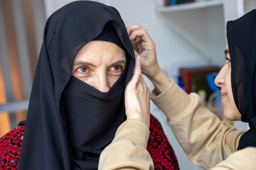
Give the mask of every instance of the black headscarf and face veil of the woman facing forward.
M 71 75 L 79 50 L 109 23 L 125 48 L 127 69 L 102 93 Z M 97 169 L 100 152 L 125 119 L 124 89 L 133 68 L 133 47 L 115 8 L 75 1 L 55 11 L 44 30 L 18 169 Z

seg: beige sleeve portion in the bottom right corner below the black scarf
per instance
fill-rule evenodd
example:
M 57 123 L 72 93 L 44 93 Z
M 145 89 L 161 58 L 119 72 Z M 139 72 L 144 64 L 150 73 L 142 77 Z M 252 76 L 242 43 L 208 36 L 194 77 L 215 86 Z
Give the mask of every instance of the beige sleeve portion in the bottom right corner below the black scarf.
M 255 161 L 256 148 L 247 147 L 245 149 L 239 150 L 225 159 L 225 161 L 220 162 L 211 170 L 254 170 L 256 167 Z

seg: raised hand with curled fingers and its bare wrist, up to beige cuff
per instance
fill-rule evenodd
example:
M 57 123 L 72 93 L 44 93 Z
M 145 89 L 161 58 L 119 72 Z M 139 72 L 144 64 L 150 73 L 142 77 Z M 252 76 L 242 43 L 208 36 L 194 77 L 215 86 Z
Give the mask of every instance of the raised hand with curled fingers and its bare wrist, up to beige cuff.
M 171 85 L 171 80 L 159 67 L 154 41 L 146 29 L 139 24 L 127 27 L 127 32 L 134 47 L 135 56 L 140 55 L 141 57 L 142 73 L 152 81 L 156 91 L 160 94 Z

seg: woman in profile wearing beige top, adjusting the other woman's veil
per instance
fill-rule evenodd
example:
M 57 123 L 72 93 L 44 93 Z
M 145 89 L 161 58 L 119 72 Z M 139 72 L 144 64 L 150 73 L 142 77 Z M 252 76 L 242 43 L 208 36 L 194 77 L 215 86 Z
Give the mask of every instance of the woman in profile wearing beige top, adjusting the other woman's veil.
M 142 58 L 142 73 L 154 83 L 151 94 L 161 111 L 166 115 L 178 142 L 191 161 L 204 169 L 255 169 L 256 167 L 256 10 L 227 24 L 228 46 L 225 49 L 226 63 L 215 79 L 220 87 L 224 115 L 229 120 L 249 123 L 250 130 L 238 131 L 232 125 L 220 121 L 204 106 L 197 94 L 186 94 L 177 84 L 166 77 L 156 61 L 154 42 L 139 25 L 128 28 L 131 40 L 139 37 L 147 49 Z M 134 45 L 136 46 L 136 45 Z M 143 122 L 144 115 L 137 119 Z M 146 120 L 146 119 L 145 119 Z M 135 127 L 136 125 L 136 127 Z M 127 131 L 132 129 L 133 134 Z M 112 143 L 100 157 L 100 169 L 126 169 L 131 167 L 154 169 L 146 154 L 145 140 L 136 136 L 148 130 L 135 120 L 124 122 Z M 146 139 L 146 135 L 144 138 Z M 143 138 L 143 137 L 142 137 Z M 119 149 L 129 145 L 126 154 Z M 141 157 L 136 155 L 140 154 Z M 133 159 L 133 157 L 137 159 Z M 117 157 L 122 160 L 113 162 Z M 112 166 L 109 166 L 112 162 Z M 142 164 L 142 162 L 144 164 Z

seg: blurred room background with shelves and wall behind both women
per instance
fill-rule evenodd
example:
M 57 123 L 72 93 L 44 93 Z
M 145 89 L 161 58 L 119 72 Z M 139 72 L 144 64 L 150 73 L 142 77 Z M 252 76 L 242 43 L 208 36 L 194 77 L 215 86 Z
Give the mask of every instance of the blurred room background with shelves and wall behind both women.
M 0 0 L 0 136 L 26 119 L 44 24 L 51 13 L 71 1 Z M 117 8 L 126 26 L 140 23 L 146 28 L 156 43 L 164 72 L 186 92 L 198 93 L 223 119 L 219 90 L 213 80 L 225 63 L 225 26 L 227 21 L 256 8 L 256 0 L 98 1 Z M 154 89 L 149 80 L 146 82 Z M 181 170 L 200 169 L 188 160 L 154 103 L 151 113 L 161 122 Z M 247 129 L 243 123 L 233 125 Z

